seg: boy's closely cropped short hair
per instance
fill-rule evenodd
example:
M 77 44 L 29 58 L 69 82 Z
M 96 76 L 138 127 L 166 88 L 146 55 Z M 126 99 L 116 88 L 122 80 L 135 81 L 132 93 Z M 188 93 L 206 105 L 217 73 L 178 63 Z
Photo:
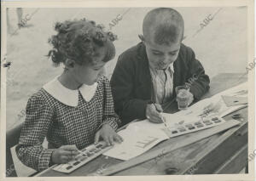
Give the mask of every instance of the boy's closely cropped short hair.
M 143 36 L 158 44 L 182 41 L 183 31 L 183 17 L 173 8 L 154 8 L 143 20 Z

